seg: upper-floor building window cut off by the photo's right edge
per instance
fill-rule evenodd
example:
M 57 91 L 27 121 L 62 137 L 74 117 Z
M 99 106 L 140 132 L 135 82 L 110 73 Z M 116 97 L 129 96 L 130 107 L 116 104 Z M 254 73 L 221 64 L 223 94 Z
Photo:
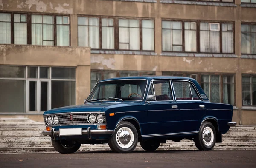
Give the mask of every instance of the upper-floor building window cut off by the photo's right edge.
M 256 54 L 256 24 L 241 24 L 242 54 Z

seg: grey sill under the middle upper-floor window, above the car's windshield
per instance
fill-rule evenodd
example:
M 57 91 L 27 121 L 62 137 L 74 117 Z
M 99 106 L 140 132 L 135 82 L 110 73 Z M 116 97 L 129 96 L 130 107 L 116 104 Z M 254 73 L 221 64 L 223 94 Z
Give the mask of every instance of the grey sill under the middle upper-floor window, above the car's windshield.
M 154 51 L 91 50 L 91 54 L 157 55 Z

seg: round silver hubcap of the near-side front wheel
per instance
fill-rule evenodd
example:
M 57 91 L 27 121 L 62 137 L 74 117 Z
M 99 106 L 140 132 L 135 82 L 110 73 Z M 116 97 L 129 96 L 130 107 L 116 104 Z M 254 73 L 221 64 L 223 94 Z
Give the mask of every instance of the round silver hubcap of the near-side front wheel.
M 122 127 L 117 131 L 116 142 L 121 148 L 129 148 L 134 142 L 134 134 L 128 127 Z

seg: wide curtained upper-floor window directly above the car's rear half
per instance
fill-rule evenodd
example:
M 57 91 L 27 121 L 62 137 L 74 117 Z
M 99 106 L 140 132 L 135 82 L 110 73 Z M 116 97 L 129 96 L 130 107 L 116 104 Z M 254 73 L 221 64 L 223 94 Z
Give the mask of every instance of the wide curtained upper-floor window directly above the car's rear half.
M 162 51 L 234 53 L 233 23 L 163 20 Z

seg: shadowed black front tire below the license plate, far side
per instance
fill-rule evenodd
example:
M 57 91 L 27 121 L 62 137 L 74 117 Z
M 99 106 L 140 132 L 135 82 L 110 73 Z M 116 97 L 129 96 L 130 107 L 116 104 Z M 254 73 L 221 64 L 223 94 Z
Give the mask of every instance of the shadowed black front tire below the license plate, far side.
M 53 140 L 52 146 L 61 154 L 72 154 L 76 152 L 81 144 L 76 141 L 66 141 L 66 140 Z

